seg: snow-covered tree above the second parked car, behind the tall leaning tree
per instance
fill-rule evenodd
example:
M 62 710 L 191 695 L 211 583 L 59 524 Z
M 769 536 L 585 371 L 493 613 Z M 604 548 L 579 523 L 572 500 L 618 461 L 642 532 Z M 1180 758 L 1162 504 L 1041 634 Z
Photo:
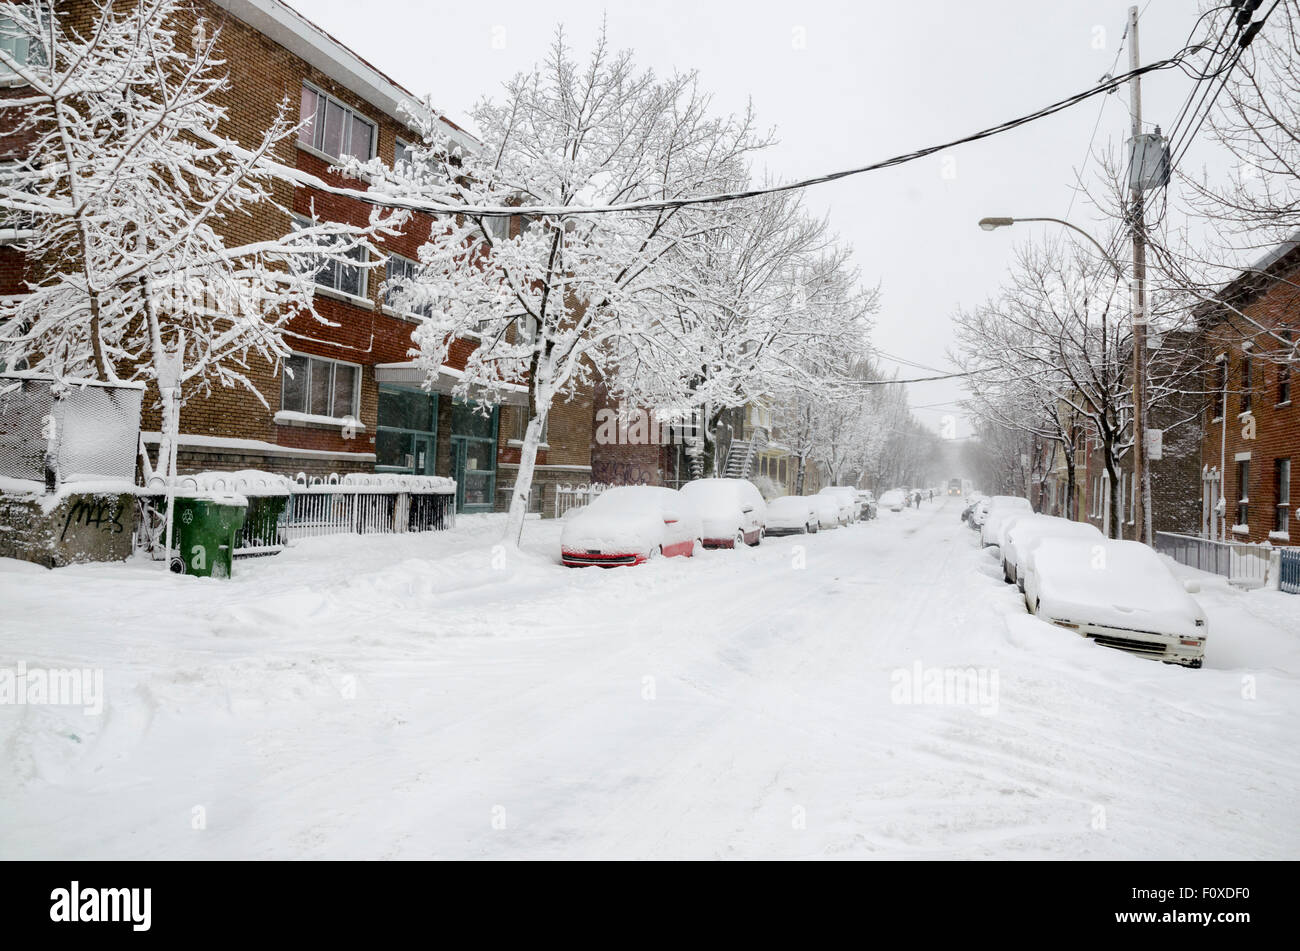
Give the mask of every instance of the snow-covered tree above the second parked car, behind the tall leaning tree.
M 858 287 L 850 248 L 794 192 L 708 210 L 714 226 L 667 257 L 658 318 L 620 340 L 616 391 L 632 403 L 698 412 L 697 474 L 728 409 L 826 399 L 841 355 L 866 348 L 875 288 Z

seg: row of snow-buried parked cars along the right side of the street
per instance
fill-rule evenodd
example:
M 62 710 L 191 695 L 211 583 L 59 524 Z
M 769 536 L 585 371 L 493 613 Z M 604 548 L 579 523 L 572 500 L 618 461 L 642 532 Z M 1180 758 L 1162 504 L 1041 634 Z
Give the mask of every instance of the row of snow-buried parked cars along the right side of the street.
M 983 505 L 983 509 L 982 509 Z M 1002 579 L 1030 613 L 1140 657 L 1199 668 L 1206 620 L 1160 555 L 1140 542 L 1108 539 L 1087 522 L 1035 514 L 1026 499 L 993 496 L 970 509 L 982 540 L 997 546 Z

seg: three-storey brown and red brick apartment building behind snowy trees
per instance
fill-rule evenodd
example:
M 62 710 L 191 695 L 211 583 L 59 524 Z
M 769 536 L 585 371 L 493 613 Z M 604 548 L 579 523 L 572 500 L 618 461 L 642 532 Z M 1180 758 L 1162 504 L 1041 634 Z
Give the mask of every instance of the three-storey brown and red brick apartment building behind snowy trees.
M 417 96 L 280 0 L 196 0 L 186 19 L 203 17 L 220 29 L 218 57 L 230 87 L 224 94 L 228 127 L 220 131 L 250 146 L 276 118 L 278 104 L 300 104 L 307 121 L 296 140 L 273 157 L 283 165 L 338 186 L 354 186 L 330 170 L 344 155 L 399 158 L 413 138 L 399 118 L 402 103 Z M 188 32 L 192 22 L 177 23 Z M 477 142 L 447 123 L 452 140 Z M 14 143 L 6 143 L 13 147 Z M 312 188 L 277 186 L 276 200 L 228 229 L 244 243 L 287 234 L 295 217 L 364 225 L 370 208 Z M 322 269 L 316 309 L 329 323 L 300 316 L 289 323 L 292 373 L 252 362 L 244 388 L 190 395 L 181 413 L 179 470 L 266 469 L 308 474 L 391 472 L 450 476 L 458 482 L 458 508 L 490 511 L 508 504 L 519 463 L 520 387 L 507 405 L 476 407 L 454 400 L 451 390 L 477 346 L 459 340 L 442 372 L 425 388 L 412 357 L 417 316 L 398 313 L 385 300 L 387 277 L 413 266 L 419 247 L 436 226 L 413 216 L 404 233 L 382 242 L 385 265 Z M 517 221 L 510 222 L 517 229 Z M 22 288 L 23 261 L 12 244 L 0 247 L 0 292 Z M 0 242 L 5 236 L 0 235 Z M 260 399 L 259 399 L 260 396 Z M 157 443 L 157 394 L 146 396 L 146 442 Z M 538 482 L 590 478 L 593 405 L 589 396 L 556 405 L 538 453 Z M 152 431 L 150 431 L 152 430 Z M 545 490 L 541 490 L 545 491 Z M 541 501 L 541 491 L 534 496 Z

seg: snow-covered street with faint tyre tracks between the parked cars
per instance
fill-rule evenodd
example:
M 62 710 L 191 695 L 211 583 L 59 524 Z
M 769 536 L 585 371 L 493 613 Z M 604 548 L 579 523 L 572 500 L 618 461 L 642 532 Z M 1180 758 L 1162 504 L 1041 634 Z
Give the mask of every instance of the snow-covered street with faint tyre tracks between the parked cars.
M 105 690 L 0 705 L 0 856 L 1300 856 L 1300 600 L 1206 585 L 1206 668 L 1140 660 L 958 503 L 614 570 L 488 516 L 229 582 L 0 561 L 0 666 Z

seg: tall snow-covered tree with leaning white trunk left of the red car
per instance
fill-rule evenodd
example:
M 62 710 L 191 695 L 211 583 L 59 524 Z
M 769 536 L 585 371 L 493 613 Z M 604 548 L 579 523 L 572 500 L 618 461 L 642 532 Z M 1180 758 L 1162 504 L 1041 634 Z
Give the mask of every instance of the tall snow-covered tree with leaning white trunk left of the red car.
M 647 329 L 680 282 L 673 252 L 718 226 L 697 208 L 568 209 L 722 191 L 762 142 L 748 116 L 714 117 L 693 73 L 637 71 L 603 34 L 585 64 L 558 35 L 546 62 L 515 77 L 499 101 L 480 104 L 473 120 L 482 147 L 464 151 L 451 147 L 437 117 L 412 117 L 422 144 L 408 165 L 419 171 L 370 165 L 365 173 L 386 195 L 546 209 L 512 236 L 490 216 L 443 220 L 421 248 L 421 273 L 400 288 L 430 305 L 415 334 L 430 373 L 455 339 L 473 338 L 459 395 L 495 400 L 508 385 L 528 387 L 506 533 L 517 544 L 551 407 L 590 383 L 620 342 L 658 340 Z

